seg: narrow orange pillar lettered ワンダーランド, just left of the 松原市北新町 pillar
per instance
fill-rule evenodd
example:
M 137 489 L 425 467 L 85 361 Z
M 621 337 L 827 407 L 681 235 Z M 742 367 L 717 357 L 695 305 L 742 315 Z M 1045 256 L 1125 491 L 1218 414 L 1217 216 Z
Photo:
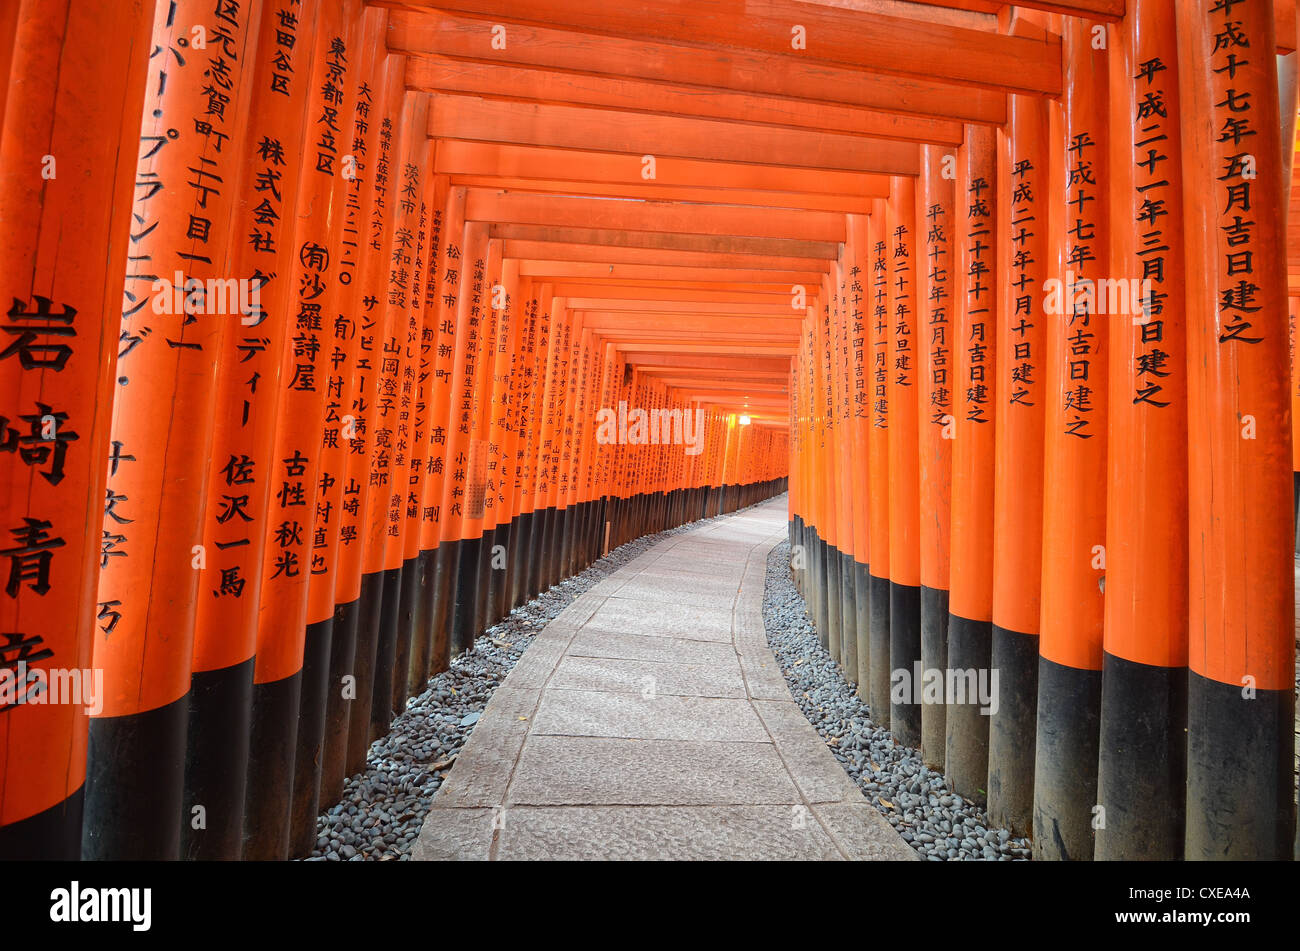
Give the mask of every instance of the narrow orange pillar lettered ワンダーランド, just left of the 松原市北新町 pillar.
M 410 573 L 411 585 L 407 585 L 407 573 L 402 578 L 402 625 L 398 631 L 396 660 L 393 665 L 393 713 L 394 716 L 406 709 L 407 698 L 412 692 L 419 694 L 426 679 L 425 669 L 429 661 L 429 626 L 424 612 L 428 600 L 428 590 L 433 585 L 433 550 L 424 551 L 421 533 L 421 517 L 424 509 L 424 481 L 425 460 L 429 453 L 429 422 L 430 422 L 430 396 L 433 385 L 433 359 L 434 359 L 434 321 L 437 314 L 425 305 L 424 292 L 428 286 L 426 272 L 433 257 L 438 256 L 438 243 L 441 242 L 441 218 L 434 226 L 433 209 L 442 208 L 447 201 L 447 179 L 445 175 L 430 174 L 433 166 L 433 143 L 425 138 L 417 149 L 416 195 L 407 195 L 403 191 L 402 201 L 413 201 L 417 205 L 417 225 L 415 260 L 408 278 L 408 308 L 410 327 L 415 334 L 412 343 L 411 368 L 415 372 L 412 379 L 412 403 L 410 413 L 410 448 L 407 451 L 407 464 L 402 473 L 402 550 L 403 568 Z M 428 195 L 430 179 L 441 190 L 432 196 Z M 406 183 L 403 184 L 403 190 Z M 441 214 L 441 212 L 439 212 Z

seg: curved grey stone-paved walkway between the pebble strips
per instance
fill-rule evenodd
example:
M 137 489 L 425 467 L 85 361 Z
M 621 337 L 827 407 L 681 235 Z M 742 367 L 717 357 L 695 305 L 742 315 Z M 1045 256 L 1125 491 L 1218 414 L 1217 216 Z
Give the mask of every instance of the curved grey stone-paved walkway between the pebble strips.
M 420 859 L 915 859 L 790 699 L 763 633 L 785 498 L 666 538 L 497 689 Z

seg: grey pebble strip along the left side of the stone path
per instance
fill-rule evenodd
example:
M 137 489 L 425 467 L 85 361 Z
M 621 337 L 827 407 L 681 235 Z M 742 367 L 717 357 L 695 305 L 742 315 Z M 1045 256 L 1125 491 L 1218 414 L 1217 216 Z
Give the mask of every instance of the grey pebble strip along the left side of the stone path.
M 715 516 L 725 518 L 727 516 Z M 343 783 L 343 798 L 316 820 L 306 861 L 394 861 L 411 857 L 433 796 L 482 715 L 533 638 L 584 591 L 656 542 L 711 518 L 633 539 L 586 570 L 515 608 L 407 700 L 390 733 L 370 744 L 365 772 Z

